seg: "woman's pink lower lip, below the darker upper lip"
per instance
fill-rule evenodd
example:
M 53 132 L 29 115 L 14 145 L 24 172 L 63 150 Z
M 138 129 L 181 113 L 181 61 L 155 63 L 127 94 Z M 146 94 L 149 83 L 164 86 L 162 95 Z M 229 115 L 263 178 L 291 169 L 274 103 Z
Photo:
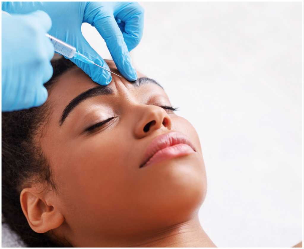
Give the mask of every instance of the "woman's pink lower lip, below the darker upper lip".
M 156 164 L 161 161 L 171 159 L 174 157 L 181 157 L 191 153 L 195 153 L 194 150 L 187 144 L 175 144 L 170 147 L 166 147 L 162 150 L 157 151 L 143 167 L 148 165 Z

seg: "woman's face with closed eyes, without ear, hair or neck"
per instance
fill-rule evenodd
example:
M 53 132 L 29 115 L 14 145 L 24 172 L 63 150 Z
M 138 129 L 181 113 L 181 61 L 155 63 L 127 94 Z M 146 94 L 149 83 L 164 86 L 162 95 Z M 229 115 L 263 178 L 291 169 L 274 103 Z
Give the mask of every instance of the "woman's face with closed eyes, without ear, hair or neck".
M 112 61 L 107 63 L 118 73 Z M 78 246 L 80 236 L 105 239 L 181 223 L 197 214 L 206 195 L 193 126 L 163 108 L 171 103 L 159 85 L 112 78 L 101 87 L 73 67 L 58 78 L 47 100 L 52 112 L 41 148 L 58 184 L 57 208 Z M 80 101 L 68 106 L 78 95 Z M 145 164 L 161 144 L 189 144 L 179 133 L 192 147 L 168 147 Z

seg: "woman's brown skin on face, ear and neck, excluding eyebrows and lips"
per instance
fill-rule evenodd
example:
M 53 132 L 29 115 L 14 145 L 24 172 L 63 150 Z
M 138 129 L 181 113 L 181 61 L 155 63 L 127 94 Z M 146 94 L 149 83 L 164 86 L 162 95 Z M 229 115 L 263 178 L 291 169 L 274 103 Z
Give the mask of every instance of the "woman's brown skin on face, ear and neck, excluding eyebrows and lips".
M 119 73 L 112 61 L 107 63 Z M 51 230 L 75 247 L 215 247 L 198 219 L 207 181 L 195 129 L 160 107 L 171 104 L 158 85 L 134 87 L 112 78 L 114 94 L 81 102 L 62 126 L 60 116 L 69 102 L 98 84 L 73 67 L 51 88 L 52 112 L 39 143 L 59 191 L 39 184 L 22 190 L 29 225 L 38 233 Z M 196 152 L 139 168 L 151 140 L 171 131 L 185 134 Z

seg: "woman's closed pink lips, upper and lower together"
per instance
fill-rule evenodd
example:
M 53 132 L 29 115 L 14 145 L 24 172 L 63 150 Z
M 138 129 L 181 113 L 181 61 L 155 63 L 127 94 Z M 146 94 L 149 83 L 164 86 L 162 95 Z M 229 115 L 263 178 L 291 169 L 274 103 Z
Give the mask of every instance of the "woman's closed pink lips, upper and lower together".
M 151 141 L 140 168 L 194 152 L 196 152 L 195 147 L 188 137 L 179 132 L 168 132 Z

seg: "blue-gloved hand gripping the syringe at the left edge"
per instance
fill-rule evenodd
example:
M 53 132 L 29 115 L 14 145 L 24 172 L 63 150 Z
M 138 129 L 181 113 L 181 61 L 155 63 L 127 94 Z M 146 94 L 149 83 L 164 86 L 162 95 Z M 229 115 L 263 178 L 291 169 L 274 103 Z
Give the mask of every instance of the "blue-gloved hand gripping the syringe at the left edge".
M 42 105 L 43 86 L 53 74 L 54 47 L 45 35 L 52 26 L 47 13 L 2 13 L 2 111 Z

